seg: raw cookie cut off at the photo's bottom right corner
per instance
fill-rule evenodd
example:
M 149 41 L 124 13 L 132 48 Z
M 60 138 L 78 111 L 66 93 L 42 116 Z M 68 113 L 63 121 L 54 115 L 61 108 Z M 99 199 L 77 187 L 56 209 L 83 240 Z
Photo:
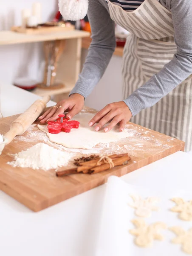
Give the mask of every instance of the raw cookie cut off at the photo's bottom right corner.
M 192 254 L 192 228 L 185 231 L 182 227 L 170 227 L 169 230 L 177 235 L 172 239 L 172 243 L 182 244 L 182 250 Z

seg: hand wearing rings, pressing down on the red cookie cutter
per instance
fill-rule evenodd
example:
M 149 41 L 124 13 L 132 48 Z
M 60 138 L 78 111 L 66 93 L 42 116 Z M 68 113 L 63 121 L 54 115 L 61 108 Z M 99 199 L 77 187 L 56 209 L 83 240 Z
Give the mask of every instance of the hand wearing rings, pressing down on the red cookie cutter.
M 62 108 L 59 108 L 62 106 Z M 72 94 L 68 99 L 64 99 L 56 104 L 56 107 L 49 108 L 42 116 L 39 117 L 41 123 L 55 121 L 64 111 L 69 111 L 66 118 L 69 120 L 78 114 L 84 106 L 84 97 L 79 93 Z

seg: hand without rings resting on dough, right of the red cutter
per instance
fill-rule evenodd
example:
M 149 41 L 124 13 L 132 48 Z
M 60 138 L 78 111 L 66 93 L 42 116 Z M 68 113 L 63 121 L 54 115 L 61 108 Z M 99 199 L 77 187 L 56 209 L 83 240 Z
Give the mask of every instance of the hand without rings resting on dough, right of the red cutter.
M 132 117 L 132 113 L 129 107 L 123 102 L 114 102 L 108 104 L 104 107 L 101 111 L 99 111 L 93 119 L 90 120 L 89 126 L 93 126 L 96 122 L 98 125 L 96 126 L 95 130 L 99 131 L 102 126 L 104 126 L 107 122 L 111 119 L 112 121 L 104 128 L 104 131 L 110 131 L 114 126 L 118 123 L 120 125 L 119 131 L 123 131 L 125 128 L 125 124 L 130 120 Z

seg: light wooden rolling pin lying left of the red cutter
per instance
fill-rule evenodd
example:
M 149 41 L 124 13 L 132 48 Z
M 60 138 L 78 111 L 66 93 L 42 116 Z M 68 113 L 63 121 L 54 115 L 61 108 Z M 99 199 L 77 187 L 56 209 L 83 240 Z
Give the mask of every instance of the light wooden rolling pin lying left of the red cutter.
M 50 99 L 50 96 L 37 99 L 23 114 L 12 122 L 10 130 L 4 135 L 5 145 L 10 143 L 15 136 L 22 135 L 32 125 L 42 111 L 45 110 L 46 104 Z

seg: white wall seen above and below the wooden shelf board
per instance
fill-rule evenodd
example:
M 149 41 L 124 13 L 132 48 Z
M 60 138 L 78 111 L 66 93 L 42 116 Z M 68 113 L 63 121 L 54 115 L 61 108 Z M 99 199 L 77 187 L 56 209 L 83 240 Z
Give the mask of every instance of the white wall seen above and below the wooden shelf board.
M 57 0 L 0 0 L 0 30 L 21 24 L 21 10 L 42 3 L 42 21 L 51 20 L 57 9 Z M 27 76 L 37 79 L 43 59 L 42 44 L 0 46 L 0 81 L 12 83 L 15 78 Z

